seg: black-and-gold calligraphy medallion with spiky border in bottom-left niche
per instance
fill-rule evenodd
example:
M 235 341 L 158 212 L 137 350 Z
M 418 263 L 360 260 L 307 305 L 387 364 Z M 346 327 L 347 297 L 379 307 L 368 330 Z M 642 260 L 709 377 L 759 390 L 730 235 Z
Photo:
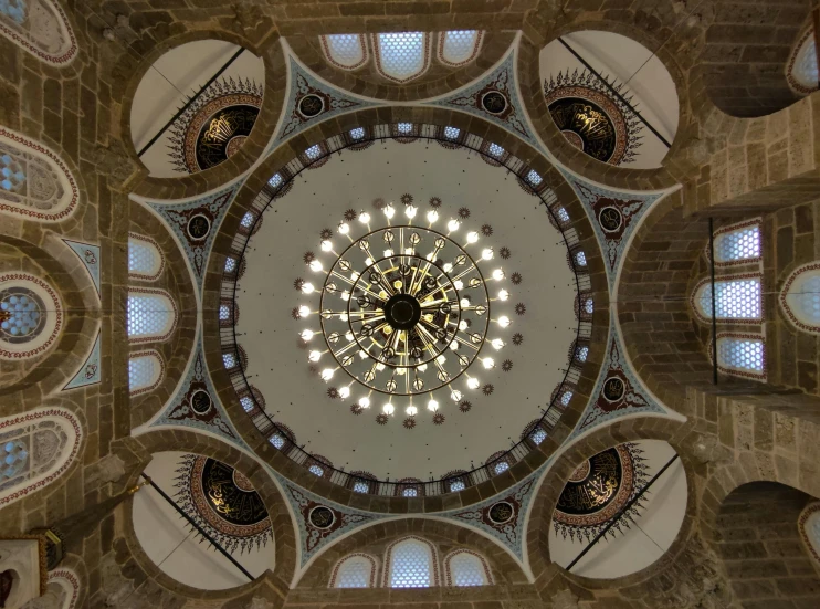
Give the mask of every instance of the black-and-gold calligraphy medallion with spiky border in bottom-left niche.
M 175 479 L 182 511 L 227 552 L 259 549 L 272 540 L 271 518 L 250 481 L 220 461 L 186 454 Z

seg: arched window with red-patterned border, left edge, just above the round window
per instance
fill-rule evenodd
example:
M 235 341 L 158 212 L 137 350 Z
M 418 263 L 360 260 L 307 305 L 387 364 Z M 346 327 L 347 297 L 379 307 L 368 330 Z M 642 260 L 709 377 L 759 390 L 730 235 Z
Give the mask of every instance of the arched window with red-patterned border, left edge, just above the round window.
M 71 216 L 78 197 L 76 180 L 56 154 L 0 126 L 0 211 L 57 221 Z

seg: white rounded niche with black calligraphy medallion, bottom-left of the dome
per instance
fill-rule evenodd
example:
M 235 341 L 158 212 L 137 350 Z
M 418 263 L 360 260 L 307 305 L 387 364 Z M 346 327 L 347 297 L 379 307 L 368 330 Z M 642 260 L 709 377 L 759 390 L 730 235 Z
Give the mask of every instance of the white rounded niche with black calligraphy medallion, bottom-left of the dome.
M 251 482 L 235 469 L 204 455 L 169 451 L 155 453 L 145 474 L 254 578 L 274 569 L 271 518 Z M 176 581 L 203 590 L 249 584 L 155 487 L 134 497 L 132 518 L 148 559 Z

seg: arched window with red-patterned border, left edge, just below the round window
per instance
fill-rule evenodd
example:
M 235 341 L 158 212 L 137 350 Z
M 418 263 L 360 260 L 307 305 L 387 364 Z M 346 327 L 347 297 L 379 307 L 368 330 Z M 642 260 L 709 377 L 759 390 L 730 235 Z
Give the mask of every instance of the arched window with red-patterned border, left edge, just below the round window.
M 0 419 L 0 510 L 65 473 L 81 440 L 80 422 L 60 408 Z

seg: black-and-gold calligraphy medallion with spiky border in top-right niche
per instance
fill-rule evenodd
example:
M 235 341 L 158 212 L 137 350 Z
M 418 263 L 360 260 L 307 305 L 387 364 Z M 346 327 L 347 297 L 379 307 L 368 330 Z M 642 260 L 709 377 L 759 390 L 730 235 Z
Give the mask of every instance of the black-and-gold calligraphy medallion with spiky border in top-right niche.
M 586 71 L 559 72 L 544 81 L 544 95 L 553 120 L 572 146 L 601 162 L 632 162 L 643 125 L 630 107 L 632 96 L 614 95 L 608 85 L 609 80 Z

